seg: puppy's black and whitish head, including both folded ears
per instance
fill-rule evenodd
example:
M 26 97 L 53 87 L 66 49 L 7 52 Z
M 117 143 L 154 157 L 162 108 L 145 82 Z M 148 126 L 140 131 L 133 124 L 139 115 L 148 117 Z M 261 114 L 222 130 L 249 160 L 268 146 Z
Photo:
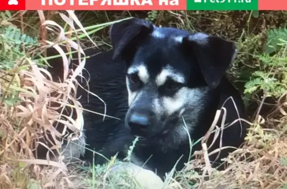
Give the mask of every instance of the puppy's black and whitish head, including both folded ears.
M 235 44 L 138 18 L 114 24 L 110 37 L 114 59 L 128 67 L 126 126 L 148 141 L 176 147 L 187 139 L 208 92 L 232 63 Z

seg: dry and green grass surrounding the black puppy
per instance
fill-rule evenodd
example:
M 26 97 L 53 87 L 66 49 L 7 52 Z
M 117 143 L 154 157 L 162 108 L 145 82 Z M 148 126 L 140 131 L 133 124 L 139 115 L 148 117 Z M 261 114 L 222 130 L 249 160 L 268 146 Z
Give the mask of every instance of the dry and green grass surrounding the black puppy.
M 86 111 L 73 94 L 78 85 L 75 77 L 85 62 L 75 72 L 66 68 L 60 82 L 52 80 L 43 68 L 49 58 L 37 55 L 52 44 L 56 49 L 59 44 L 110 49 L 107 26 L 131 16 L 157 25 L 220 35 L 238 46 L 229 77 L 244 94 L 252 122 L 245 145 L 226 159 L 231 166 L 221 172 L 209 167 L 204 150 L 196 152 L 197 158 L 169 178 L 165 188 L 287 189 L 287 11 L 40 10 L 0 12 L 0 188 L 143 189 L 133 179 L 123 182 L 123 178 L 131 179 L 125 172 L 106 179 L 108 169 L 119 163 L 115 158 L 91 169 L 82 162 L 32 156 L 34 142 L 44 144 L 43 133 L 61 138 L 61 132 L 51 126 L 57 120 L 75 131 L 69 138 L 79 138 L 81 114 Z M 77 120 L 59 114 L 67 106 L 76 110 Z M 61 143 L 45 144 L 57 149 Z M 205 174 L 193 172 L 195 167 L 202 167 Z

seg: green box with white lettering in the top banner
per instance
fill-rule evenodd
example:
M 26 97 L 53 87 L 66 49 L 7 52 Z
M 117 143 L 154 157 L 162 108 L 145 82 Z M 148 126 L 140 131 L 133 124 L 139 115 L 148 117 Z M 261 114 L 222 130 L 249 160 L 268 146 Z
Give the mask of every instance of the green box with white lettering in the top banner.
M 258 10 L 258 0 L 187 0 L 187 10 Z

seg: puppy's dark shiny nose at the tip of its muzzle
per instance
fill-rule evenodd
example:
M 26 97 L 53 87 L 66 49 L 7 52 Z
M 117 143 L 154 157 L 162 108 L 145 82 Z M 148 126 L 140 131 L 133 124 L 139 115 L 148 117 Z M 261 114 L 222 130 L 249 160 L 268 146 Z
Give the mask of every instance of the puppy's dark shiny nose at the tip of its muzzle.
M 147 116 L 143 114 L 134 113 L 131 115 L 128 122 L 129 127 L 136 135 L 143 135 L 149 124 Z

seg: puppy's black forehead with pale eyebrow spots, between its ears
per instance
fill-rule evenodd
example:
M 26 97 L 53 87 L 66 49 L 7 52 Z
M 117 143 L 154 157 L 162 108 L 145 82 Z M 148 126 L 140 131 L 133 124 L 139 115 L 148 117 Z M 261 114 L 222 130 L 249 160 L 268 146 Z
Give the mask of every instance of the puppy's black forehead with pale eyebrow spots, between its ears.
M 182 52 L 182 38 L 189 32 L 176 28 L 158 28 L 138 48 L 128 72 L 138 72 L 143 81 L 157 80 L 162 84 L 166 77 L 185 82 L 190 74 L 190 63 Z

